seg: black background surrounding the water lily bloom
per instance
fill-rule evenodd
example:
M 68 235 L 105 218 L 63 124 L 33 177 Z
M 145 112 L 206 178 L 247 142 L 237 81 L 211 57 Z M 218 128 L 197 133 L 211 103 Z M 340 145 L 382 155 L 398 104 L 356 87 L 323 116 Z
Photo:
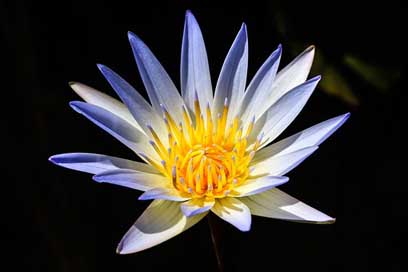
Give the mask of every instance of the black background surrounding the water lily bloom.
M 282 188 L 335 216 L 334 225 L 254 217 L 221 223 L 226 271 L 406 271 L 406 17 L 395 1 L 4 1 L 2 26 L 2 259 L 6 271 L 215 271 L 206 220 L 152 249 L 115 254 L 147 207 L 138 192 L 58 168 L 52 154 L 134 158 L 74 113 L 74 80 L 113 95 L 103 63 L 144 93 L 126 32 L 138 34 L 179 85 L 184 12 L 206 41 L 213 85 L 245 21 L 249 78 L 283 45 L 281 67 L 315 44 L 320 88 L 282 137 L 350 111 L 349 121 L 292 171 Z M 350 57 L 352 56 L 352 57 Z M 357 64 L 356 64 L 357 63 Z M 13 77 L 14 75 L 14 77 Z

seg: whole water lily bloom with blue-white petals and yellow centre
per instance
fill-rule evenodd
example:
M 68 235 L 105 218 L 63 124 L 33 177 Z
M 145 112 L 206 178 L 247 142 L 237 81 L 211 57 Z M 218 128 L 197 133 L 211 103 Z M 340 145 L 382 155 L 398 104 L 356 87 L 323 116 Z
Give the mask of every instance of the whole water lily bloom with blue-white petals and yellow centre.
M 334 219 L 275 188 L 349 114 L 272 143 L 296 118 L 320 77 L 306 80 L 314 56 L 307 48 L 277 73 L 281 46 L 246 87 L 248 41 L 243 24 L 224 61 L 215 91 L 194 16 L 186 13 L 181 95 L 149 48 L 129 41 L 150 100 L 104 65 L 98 68 L 120 99 L 71 83 L 85 102 L 71 107 L 133 150 L 145 163 L 90 153 L 55 155 L 60 166 L 94 174 L 97 182 L 143 191 L 153 200 L 119 243 L 133 253 L 166 241 L 213 212 L 241 231 L 251 214 L 290 221 Z

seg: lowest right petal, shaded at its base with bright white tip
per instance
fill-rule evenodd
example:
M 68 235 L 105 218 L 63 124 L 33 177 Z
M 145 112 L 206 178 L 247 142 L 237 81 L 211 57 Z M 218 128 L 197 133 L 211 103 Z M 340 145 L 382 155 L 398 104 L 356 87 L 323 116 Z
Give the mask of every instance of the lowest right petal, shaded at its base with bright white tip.
M 335 221 L 277 188 L 241 198 L 241 201 L 253 215 L 304 223 L 330 224 Z

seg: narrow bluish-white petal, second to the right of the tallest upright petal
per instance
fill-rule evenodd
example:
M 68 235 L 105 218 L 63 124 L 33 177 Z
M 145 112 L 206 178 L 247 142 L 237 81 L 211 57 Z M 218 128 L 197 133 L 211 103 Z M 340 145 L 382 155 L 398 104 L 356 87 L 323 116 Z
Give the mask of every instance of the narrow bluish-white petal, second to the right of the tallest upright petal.
M 279 45 L 269 58 L 262 64 L 254 78 L 249 83 L 240 105 L 241 121 L 246 124 L 258 112 L 260 105 L 271 96 L 273 82 L 278 70 L 282 46 Z

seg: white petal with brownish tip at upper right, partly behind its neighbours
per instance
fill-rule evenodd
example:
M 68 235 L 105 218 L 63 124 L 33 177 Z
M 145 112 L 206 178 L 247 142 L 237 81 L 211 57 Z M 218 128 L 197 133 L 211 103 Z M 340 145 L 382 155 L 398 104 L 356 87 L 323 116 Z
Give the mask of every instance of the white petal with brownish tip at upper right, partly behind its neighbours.
M 314 51 L 314 46 L 308 47 L 285 68 L 279 71 L 273 82 L 272 90 L 270 91 L 271 95 L 256 108 L 256 117 L 261 116 L 283 95 L 306 80 L 312 67 Z

